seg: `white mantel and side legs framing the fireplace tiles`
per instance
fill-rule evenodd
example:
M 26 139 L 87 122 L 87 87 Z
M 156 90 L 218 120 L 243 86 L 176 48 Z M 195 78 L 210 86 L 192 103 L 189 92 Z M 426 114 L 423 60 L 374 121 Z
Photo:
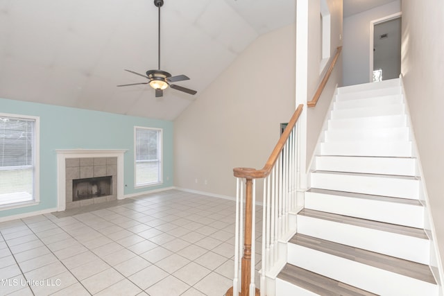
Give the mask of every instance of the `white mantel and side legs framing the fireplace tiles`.
M 117 157 L 117 199 L 123 199 L 123 155 L 126 149 L 57 149 L 57 210 L 66 209 L 66 159 Z

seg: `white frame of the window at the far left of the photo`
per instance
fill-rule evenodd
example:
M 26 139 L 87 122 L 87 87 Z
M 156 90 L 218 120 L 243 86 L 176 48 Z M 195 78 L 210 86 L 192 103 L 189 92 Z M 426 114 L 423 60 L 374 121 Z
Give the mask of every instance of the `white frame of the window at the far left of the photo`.
M 6 209 L 16 209 L 19 207 L 30 207 L 40 203 L 40 117 L 22 114 L 0 113 L 0 117 L 10 117 L 14 119 L 25 119 L 34 121 L 34 149 L 33 149 L 33 200 L 26 202 L 14 202 L 0 205 L 0 211 Z

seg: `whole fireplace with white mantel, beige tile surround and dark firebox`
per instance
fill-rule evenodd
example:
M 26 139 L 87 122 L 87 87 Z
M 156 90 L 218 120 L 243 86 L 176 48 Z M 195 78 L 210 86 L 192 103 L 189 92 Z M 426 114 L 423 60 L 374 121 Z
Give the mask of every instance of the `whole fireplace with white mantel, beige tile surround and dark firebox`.
M 126 150 L 56 150 L 58 211 L 123 199 Z

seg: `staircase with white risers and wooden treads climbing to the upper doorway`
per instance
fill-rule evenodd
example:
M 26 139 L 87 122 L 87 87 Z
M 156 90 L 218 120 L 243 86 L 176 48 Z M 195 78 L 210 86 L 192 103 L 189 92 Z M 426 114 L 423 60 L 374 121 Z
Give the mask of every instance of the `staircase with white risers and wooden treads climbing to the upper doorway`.
M 400 80 L 334 100 L 275 295 L 438 295 Z

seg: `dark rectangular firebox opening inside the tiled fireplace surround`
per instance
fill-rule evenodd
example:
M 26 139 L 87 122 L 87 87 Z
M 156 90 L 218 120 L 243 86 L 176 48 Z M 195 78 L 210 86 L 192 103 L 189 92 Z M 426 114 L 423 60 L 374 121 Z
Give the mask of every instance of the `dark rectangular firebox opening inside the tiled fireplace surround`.
M 112 176 L 72 180 L 72 200 L 112 195 Z

